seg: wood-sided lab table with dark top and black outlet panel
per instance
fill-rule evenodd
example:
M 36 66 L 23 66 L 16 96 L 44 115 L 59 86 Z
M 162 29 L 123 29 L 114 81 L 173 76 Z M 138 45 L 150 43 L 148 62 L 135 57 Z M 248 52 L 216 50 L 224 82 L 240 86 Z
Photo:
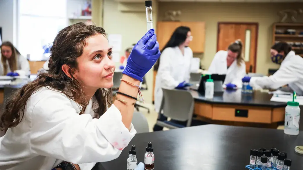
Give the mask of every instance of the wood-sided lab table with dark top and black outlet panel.
M 270 101 L 272 94 L 254 91 L 242 94 L 241 90 L 225 90 L 206 99 L 191 90 L 195 100 L 194 113 L 198 119 L 212 124 L 277 128 L 285 118 L 286 103 Z

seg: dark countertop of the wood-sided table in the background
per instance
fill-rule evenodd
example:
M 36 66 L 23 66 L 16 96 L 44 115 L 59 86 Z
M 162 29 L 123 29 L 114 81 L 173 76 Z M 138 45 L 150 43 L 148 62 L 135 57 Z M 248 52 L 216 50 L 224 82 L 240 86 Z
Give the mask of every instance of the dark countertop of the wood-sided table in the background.
M 223 93 L 215 93 L 213 99 L 206 99 L 198 91 L 191 90 L 195 101 L 211 104 L 233 104 L 245 106 L 286 107 L 286 103 L 270 101 L 272 94 L 254 91 L 253 94 L 242 94 L 241 90 L 225 90 Z

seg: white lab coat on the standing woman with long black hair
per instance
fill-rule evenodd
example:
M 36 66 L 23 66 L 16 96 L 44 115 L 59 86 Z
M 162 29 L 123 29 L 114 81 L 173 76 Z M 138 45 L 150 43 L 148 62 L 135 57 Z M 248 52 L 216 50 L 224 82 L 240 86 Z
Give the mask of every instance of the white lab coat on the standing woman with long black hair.
M 189 47 L 184 48 L 184 55 L 179 47 L 168 47 L 161 53 L 154 94 L 156 112 L 160 111 L 162 88 L 174 89 L 183 81 L 189 83 L 192 57 Z

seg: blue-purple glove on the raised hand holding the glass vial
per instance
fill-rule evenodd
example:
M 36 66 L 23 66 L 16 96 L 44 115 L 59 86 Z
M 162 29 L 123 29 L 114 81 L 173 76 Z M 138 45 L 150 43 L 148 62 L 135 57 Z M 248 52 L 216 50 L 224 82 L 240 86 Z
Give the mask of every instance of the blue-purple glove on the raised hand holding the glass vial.
M 159 43 L 154 29 L 150 29 L 132 49 L 123 74 L 143 81 L 143 76 L 160 57 Z

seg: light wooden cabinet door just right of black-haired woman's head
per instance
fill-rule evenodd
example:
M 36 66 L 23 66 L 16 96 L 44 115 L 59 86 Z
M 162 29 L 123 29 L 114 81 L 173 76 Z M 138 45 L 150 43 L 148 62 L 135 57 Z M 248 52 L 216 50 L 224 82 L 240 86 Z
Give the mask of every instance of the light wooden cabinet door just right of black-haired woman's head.
M 191 50 L 195 53 L 203 53 L 205 42 L 205 22 L 181 22 L 181 25 L 187 26 L 191 29 L 191 35 L 193 37 L 189 44 Z

